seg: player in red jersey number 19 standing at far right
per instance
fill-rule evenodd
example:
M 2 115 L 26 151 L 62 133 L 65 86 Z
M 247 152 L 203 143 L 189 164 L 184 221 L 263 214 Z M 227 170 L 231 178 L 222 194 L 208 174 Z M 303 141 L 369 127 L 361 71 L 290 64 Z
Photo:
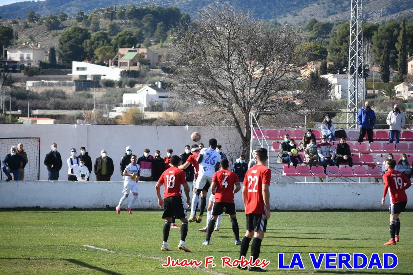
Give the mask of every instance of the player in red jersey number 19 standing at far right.
M 407 204 L 405 190 L 412 184 L 410 179 L 403 172 L 394 170 L 395 160 L 386 160 L 385 168 L 387 172 L 383 175 L 385 186 L 383 188 L 382 205 L 385 205 L 386 193 L 389 192 L 390 198 L 390 240 L 385 245 L 394 245 L 399 242 L 400 219 L 399 214 L 404 212 Z

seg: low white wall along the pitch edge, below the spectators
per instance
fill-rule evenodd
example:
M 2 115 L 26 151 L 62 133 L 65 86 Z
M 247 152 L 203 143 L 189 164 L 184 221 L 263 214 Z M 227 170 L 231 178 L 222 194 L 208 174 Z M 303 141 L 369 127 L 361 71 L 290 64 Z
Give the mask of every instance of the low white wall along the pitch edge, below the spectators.
M 134 208 L 158 209 L 155 182 L 138 183 Z M 0 207 L 104 208 L 115 207 L 122 196 L 122 182 L 16 181 L 0 183 Z M 381 206 L 383 185 L 377 183 L 277 183 L 270 185 L 271 209 L 388 209 Z M 406 190 L 413 196 L 413 188 Z M 10 195 L 13 194 L 13 195 Z M 163 194 L 163 187 L 161 187 Z M 185 197 L 185 195 L 184 195 Z M 129 199 L 126 203 L 128 203 Z M 127 205 L 125 203 L 125 205 Z M 241 194 L 235 194 L 241 210 Z M 407 204 L 413 206 L 412 200 Z

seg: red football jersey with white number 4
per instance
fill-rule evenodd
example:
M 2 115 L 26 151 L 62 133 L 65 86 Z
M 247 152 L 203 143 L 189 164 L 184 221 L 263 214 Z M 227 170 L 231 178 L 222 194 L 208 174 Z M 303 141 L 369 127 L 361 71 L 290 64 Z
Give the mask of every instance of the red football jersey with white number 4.
M 216 202 L 234 202 L 234 185 L 239 182 L 237 174 L 223 169 L 212 176 L 212 182 L 216 183 Z

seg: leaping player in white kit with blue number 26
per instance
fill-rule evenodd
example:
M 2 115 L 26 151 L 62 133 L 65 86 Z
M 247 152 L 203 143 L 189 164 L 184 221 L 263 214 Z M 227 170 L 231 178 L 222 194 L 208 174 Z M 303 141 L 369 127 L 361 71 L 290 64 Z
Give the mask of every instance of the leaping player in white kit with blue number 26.
M 194 195 L 192 196 L 190 222 L 196 221 L 197 223 L 200 223 L 202 221 L 202 215 L 207 206 L 207 193 L 212 183 L 212 176 L 214 176 L 214 173 L 221 162 L 221 155 L 216 151 L 216 145 L 216 139 L 210 139 L 209 148 L 202 148 L 199 152 L 197 159 L 197 162 L 199 163 L 199 172 L 197 180 L 195 181 Z M 195 217 L 195 212 L 200 194 L 201 205 L 197 219 Z

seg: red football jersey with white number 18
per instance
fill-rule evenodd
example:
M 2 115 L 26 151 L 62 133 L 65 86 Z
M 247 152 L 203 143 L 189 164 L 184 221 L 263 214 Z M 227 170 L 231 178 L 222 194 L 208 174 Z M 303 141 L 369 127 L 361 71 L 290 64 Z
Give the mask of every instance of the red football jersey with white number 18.
M 165 187 L 164 200 L 167 197 L 182 196 L 181 184 L 186 183 L 185 172 L 178 167 L 172 166 L 165 170 L 158 180 Z

